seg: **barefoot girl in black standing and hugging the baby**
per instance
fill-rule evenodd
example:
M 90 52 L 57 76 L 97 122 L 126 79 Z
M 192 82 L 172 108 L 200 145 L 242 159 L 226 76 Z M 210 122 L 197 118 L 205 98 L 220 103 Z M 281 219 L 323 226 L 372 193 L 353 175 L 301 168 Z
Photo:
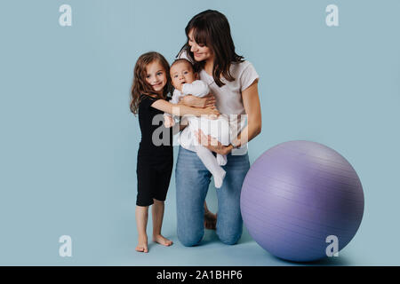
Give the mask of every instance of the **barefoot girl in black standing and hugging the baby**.
M 154 51 L 141 55 L 134 67 L 131 102 L 132 113 L 139 114 L 141 131 L 136 168 L 136 224 L 139 233 L 136 250 L 139 252 L 148 252 L 146 227 L 150 205 L 153 205 L 153 241 L 164 246 L 172 245 L 172 241 L 161 234 L 164 201 L 173 164 L 172 129 L 164 127 L 164 112 L 172 114 L 172 107 L 179 107 L 180 115 L 219 114 L 213 101 L 208 102 L 204 108 L 173 105 L 167 101 L 170 99 L 167 97 L 170 91 L 170 67 L 164 56 Z

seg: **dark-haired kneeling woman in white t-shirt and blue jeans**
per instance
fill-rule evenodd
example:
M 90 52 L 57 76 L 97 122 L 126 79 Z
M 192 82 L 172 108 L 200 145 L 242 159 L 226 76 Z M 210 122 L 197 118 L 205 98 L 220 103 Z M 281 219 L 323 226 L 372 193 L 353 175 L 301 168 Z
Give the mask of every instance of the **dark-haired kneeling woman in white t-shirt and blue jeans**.
M 227 174 L 217 191 L 216 230 L 220 241 L 235 244 L 243 230 L 240 193 L 250 162 L 245 147 L 242 151 L 234 148 L 245 146 L 260 134 L 259 76 L 250 62 L 236 54 L 228 20 L 220 12 L 207 10 L 197 14 L 188 22 L 185 31 L 188 43 L 179 57 L 195 64 L 200 79 L 209 84 L 220 114 L 247 114 L 247 126 L 232 140 L 231 145 L 222 146 L 211 137 L 204 136 L 200 130 L 197 132 L 198 141 L 203 146 L 216 154 L 228 155 L 228 162 L 223 167 Z M 191 106 L 200 104 L 196 100 L 186 97 L 184 103 Z M 232 154 L 233 150 L 236 151 Z M 178 239 L 185 246 L 194 246 L 204 235 L 204 200 L 211 173 L 195 152 L 180 146 L 175 174 Z

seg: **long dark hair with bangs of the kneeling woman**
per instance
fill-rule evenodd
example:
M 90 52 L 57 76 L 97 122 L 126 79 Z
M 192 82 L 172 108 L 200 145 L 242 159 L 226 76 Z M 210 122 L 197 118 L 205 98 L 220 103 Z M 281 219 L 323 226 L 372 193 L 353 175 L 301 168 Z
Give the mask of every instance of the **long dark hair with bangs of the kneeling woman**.
M 212 77 L 215 83 L 221 87 L 224 83 L 221 82 L 221 75 L 228 82 L 235 81 L 235 78 L 230 74 L 229 68 L 232 63 L 244 61 L 244 57 L 237 55 L 235 52 L 235 44 L 230 35 L 230 27 L 227 17 L 224 14 L 206 10 L 198 13 L 188 22 L 185 28 L 186 36 L 193 30 L 193 39 L 197 44 L 204 44 L 210 48 L 214 54 L 214 66 L 212 68 Z M 186 51 L 188 58 L 194 62 L 195 71 L 198 72 L 204 68 L 205 62 L 196 62 L 193 52 L 190 51 L 190 46 L 186 43 L 180 53 Z

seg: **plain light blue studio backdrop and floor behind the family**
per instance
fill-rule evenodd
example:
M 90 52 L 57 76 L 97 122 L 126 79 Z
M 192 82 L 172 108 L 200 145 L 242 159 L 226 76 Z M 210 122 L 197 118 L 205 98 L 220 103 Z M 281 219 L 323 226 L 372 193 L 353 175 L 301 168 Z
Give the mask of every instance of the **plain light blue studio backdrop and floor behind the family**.
M 59 25 L 61 4 L 72 7 L 72 27 Z M 339 7 L 339 27 L 325 24 L 328 4 Z M 174 245 L 134 251 L 140 129 L 129 109 L 132 69 L 150 50 L 171 62 L 188 20 L 209 8 L 228 17 L 236 51 L 260 75 L 263 124 L 251 162 L 278 143 L 312 140 L 344 155 L 364 185 L 355 239 L 316 264 L 400 264 L 395 0 L 2 1 L 0 264 L 292 265 L 246 231 L 234 247 L 213 231 L 202 246 L 183 247 L 174 174 L 163 227 Z M 213 186 L 207 201 L 215 211 Z M 59 256 L 63 234 L 72 257 Z

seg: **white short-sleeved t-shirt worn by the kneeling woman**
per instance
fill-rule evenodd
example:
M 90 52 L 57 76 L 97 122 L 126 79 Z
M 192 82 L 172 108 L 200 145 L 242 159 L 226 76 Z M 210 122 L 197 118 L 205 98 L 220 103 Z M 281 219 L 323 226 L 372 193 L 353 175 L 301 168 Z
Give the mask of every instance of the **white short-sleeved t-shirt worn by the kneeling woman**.
M 188 59 L 185 53 L 180 54 L 180 58 Z M 252 63 L 244 60 L 240 63 L 232 63 L 230 66 L 230 74 L 235 78 L 235 81 L 228 82 L 225 78 L 222 78 L 222 83 L 225 83 L 222 87 L 219 87 L 212 78 L 212 75 L 208 75 L 204 70 L 200 71 L 200 80 L 207 83 L 212 94 L 215 97 L 215 106 L 217 106 L 220 114 L 226 114 L 229 119 L 229 123 L 238 124 L 238 130 L 242 130 L 245 126 L 245 109 L 242 99 L 242 91 L 246 90 L 250 85 L 259 78 Z M 234 115 L 235 114 L 235 115 Z M 244 115 L 237 115 L 244 114 Z M 238 133 L 237 133 L 238 134 Z M 235 138 L 237 137 L 235 135 Z M 193 145 L 193 141 L 188 139 L 194 139 L 190 134 L 188 127 L 182 130 L 180 133 L 180 142 L 184 145 Z M 182 145 L 182 143 L 180 143 Z M 196 151 L 195 149 L 190 149 Z M 246 154 L 247 146 L 243 146 L 241 150 L 236 150 L 236 154 Z

